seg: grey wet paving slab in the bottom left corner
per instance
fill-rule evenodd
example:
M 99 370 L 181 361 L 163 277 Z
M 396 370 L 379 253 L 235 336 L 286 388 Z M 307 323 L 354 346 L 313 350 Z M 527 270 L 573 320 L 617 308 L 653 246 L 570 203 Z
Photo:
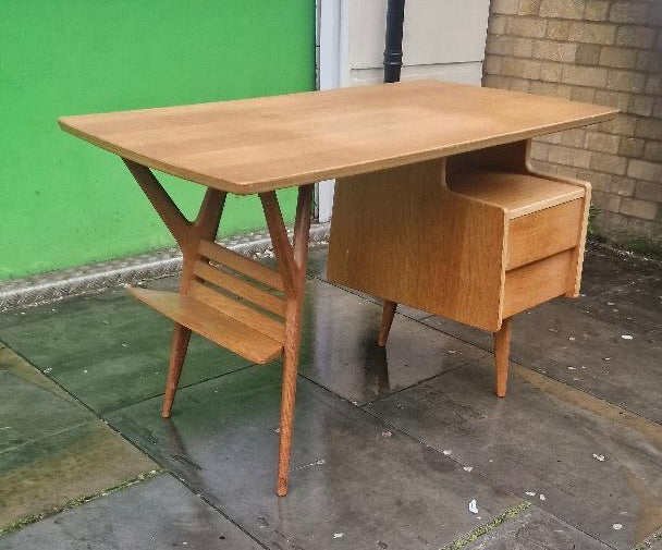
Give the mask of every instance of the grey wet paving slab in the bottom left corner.
M 0 550 L 257 550 L 238 527 L 169 475 L 0 537 Z

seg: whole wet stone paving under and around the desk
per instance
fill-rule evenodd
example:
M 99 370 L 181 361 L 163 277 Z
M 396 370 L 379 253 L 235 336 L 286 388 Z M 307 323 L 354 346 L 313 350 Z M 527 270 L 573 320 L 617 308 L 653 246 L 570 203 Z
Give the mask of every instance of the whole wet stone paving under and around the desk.
M 324 264 L 312 249 L 285 499 L 280 363 L 195 339 L 163 420 L 170 326 L 124 292 L 0 319 L 0 524 L 70 509 L 0 549 L 659 548 L 659 264 L 590 248 L 580 298 L 518 316 L 505 400 L 489 334 L 402 307 L 380 349 L 379 304 Z

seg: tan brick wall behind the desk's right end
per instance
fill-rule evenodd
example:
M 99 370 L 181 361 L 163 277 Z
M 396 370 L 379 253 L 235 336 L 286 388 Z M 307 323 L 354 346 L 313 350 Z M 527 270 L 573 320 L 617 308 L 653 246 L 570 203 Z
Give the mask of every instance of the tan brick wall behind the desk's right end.
M 593 184 L 598 233 L 662 243 L 662 0 L 492 0 L 483 85 L 621 109 L 534 159 Z

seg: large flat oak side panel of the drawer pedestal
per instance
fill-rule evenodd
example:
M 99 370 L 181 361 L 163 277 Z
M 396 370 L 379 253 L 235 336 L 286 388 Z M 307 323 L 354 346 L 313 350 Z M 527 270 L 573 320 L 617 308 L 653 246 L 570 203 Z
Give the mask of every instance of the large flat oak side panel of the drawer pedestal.
M 443 160 L 341 179 L 328 278 L 493 332 L 505 225 L 502 207 L 445 186 Z

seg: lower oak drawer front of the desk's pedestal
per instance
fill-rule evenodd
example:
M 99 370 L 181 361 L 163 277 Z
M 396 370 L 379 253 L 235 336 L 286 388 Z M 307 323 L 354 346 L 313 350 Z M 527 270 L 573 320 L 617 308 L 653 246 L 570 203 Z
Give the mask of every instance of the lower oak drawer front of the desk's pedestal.
M 571 249 L 507 271 L 502 317 L 505 319 L 565 294 L 575 262 L 575 250 Z

